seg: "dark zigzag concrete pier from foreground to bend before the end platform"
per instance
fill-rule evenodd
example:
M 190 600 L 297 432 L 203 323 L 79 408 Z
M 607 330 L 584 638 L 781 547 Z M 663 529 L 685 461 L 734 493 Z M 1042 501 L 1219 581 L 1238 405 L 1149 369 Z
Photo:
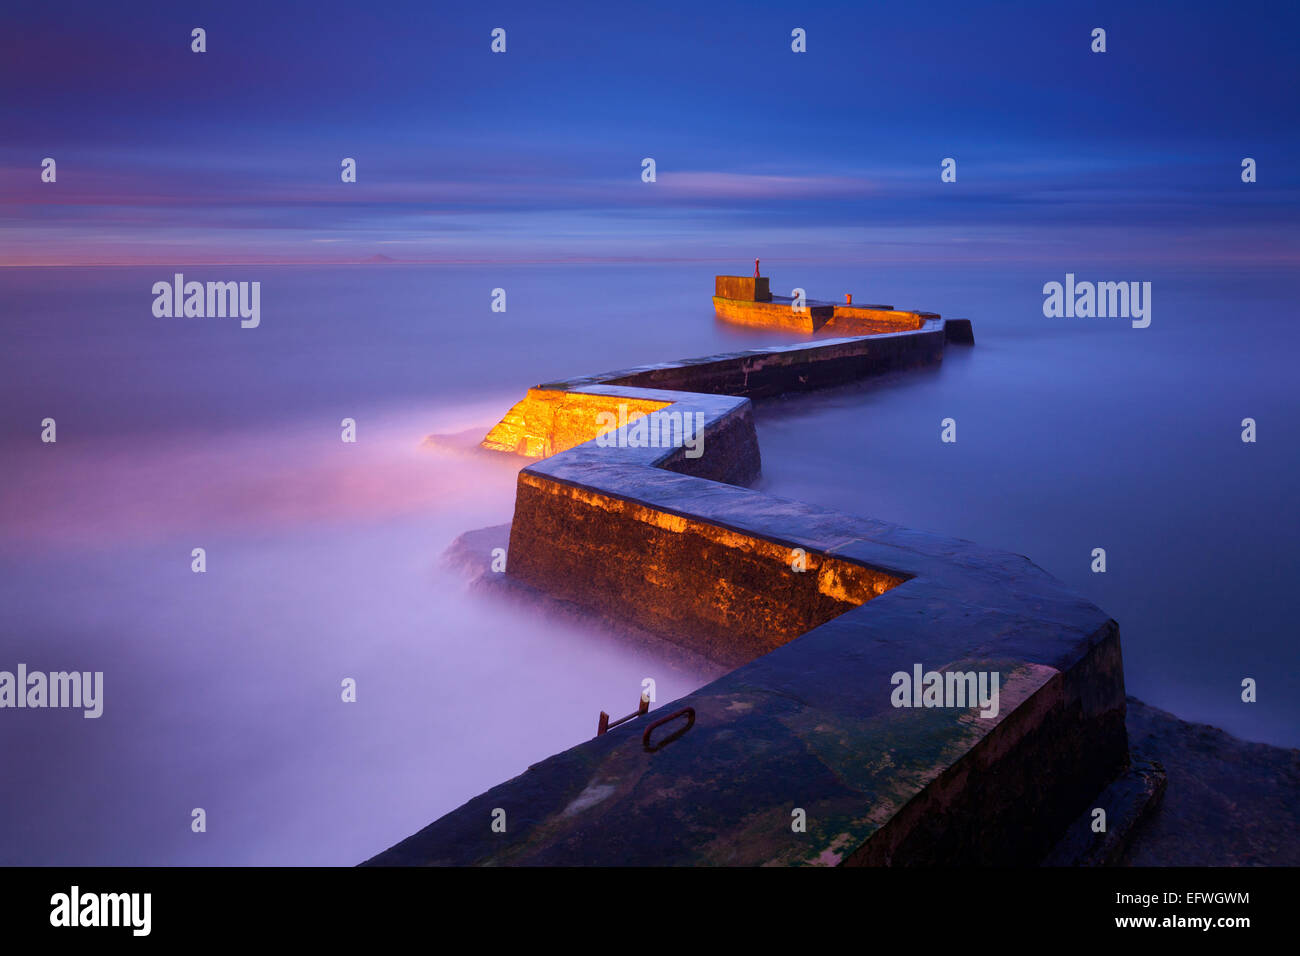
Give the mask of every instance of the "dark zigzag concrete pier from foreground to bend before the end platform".
M 1115 623 L 1019 555 L 744 486 L 759 459 L 741 395 L 937 360 L 944 324 L 916 315 L 911 332 L 538 386 L 556 393 L 542 399 L 551 405 L 571 395 L 670 402 L 703 418 L 706 441 L 689 458 L 680 447 L 589 440 L 524 468 L 508 578 L 740 666 L 534 765 L 370 862 L 1046 856 L 1126 766 Z M 526 451 L 528 434 L 558 447 L 568 441 L 560 432 L 582 433 L 523 418 L 514 450 Z M 892 676 L 914 665 L 998 675 L 1000 709 L 894 706 Z M 642 726 L 681 706 L 694 709 L 694 727 L 646 753 Z M 490 826 L 497 808 L 506 832 Z M 805 831 L 792 829 L 796 812 Z

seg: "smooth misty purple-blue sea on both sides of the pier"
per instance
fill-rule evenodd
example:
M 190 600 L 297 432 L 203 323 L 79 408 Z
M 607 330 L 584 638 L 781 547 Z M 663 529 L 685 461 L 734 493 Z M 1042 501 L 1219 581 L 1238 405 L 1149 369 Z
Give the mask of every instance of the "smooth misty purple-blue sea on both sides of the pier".
M 0 670 L 105 685 L 98 719 L 0 711 L 0 864 L 355 864 L 642 678 L 659 706 L 707 682 L 468 592 L 441 555 L 510 520 L 524 462 L 421 442 L 541 381 L 797 341 L 714 320 L 737 268 L 181 269 L 261 281 L 257 329 L 153 317 L 169 268 L 0 269 Z M 1300 744 L 1290 278 L 1080 276 L 1153 281 L 1131 329 L 1045 319 L 1065 271 L 764 263 L 775 291 L 970 317 L 976 346 L 759 403 L 758 488 L 1026 554 L 1119 622 L 1131 693 Z

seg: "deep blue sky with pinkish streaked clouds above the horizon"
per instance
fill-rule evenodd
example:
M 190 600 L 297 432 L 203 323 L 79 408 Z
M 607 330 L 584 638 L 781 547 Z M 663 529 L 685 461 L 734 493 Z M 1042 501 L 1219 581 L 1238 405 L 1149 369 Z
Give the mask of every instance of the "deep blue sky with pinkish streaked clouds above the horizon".
M 1300 259 L 1295 3 L 65 3 L 4 21 L 4 265 Z

